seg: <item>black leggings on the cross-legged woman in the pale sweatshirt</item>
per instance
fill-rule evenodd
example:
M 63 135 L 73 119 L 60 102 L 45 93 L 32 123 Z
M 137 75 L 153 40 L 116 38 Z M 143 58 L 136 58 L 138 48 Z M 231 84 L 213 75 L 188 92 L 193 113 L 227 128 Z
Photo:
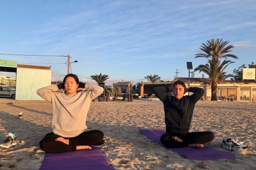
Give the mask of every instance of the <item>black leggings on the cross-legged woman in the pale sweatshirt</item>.
M 47 133 L 45 137 L 39 142 L 41 150 L 48 153 L 60 153 L 71 150 L 76 150 L 76 146 L 89 146 L 104 144 L 103 132 L 99 130 L 85 131 L 73 138 L 65 138 L 53 132 Z M 55 139 L 62 137 L 69 139 L 69 145 L 55 141 Z

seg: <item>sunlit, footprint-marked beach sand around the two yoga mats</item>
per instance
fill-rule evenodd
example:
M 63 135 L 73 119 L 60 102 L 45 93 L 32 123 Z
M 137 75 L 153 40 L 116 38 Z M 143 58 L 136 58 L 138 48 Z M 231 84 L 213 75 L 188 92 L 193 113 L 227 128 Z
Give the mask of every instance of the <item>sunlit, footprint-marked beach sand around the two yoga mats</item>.
M 17 119 L 20 111 L 23 119 Z M 50 103 L 0 105 L 1 142 L 10 131 L 19 141 L 15 147 L 0 149 L 0 169 L 40 168 L 45 153 L 39 141 L 51 132 L 51 116 Z M 160 101 L 92 102 L 86 125 L 104 132 L 101 148 L 115 169 L 256 169 L 256 103 L 196 104 L 190 131 L 212 131 L 215 139 L 207 146 L 225 151 L 219 145 L 223 137 L 236 137 L 249 146 L 248 151 L 233 152 L 236 158 L 231 160 L 189 160 L 142 135 L 141 128 L 165 128 Z

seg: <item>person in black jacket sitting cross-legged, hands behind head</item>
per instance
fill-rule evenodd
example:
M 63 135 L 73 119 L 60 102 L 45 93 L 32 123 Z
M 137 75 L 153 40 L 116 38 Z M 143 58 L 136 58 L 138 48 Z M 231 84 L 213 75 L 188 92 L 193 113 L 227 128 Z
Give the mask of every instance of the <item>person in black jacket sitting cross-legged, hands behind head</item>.
M 184 82 L 178 80 L 171 87 L 153 88 L 155 95 L 163 102 L 165 110 L 166 133 L 160 138 L 162 144 L 171 148 L 195 147 L 203 148 L 203 144 L 214 139 L 210 131 L 189 132 L 196 102 L 203 96 L 203 89 L 186 88 Z M 186 92 L 193 92 L 184 96 Z M 174 96 L 167 93 L 173 92 Z

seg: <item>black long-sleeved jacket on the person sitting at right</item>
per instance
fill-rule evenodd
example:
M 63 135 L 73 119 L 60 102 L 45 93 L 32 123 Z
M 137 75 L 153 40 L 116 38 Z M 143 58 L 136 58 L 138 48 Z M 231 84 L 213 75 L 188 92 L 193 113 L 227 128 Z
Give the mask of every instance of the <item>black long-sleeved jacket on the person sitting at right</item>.
M 153 91 L 164 104 L 166 132 L 188 132 L 195 104 L 203 96 L 204 90 L 190 87 L 189 91 L 194 94 L 183 96 L 179 100 L 169 95 L 169 87 L 155 87 Z

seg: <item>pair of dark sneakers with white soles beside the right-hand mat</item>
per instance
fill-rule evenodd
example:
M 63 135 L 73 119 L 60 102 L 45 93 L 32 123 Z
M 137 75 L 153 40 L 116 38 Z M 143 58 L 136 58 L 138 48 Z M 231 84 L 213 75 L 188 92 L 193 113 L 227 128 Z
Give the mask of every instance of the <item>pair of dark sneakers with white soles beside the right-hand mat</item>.
M 240 142 L 235 138 L 227 138 L 222 140 L 222 147 L 226 150 L 235 150 L 235 151 L 245 151 L 248 149 L 248 146 L 245 142 Z

